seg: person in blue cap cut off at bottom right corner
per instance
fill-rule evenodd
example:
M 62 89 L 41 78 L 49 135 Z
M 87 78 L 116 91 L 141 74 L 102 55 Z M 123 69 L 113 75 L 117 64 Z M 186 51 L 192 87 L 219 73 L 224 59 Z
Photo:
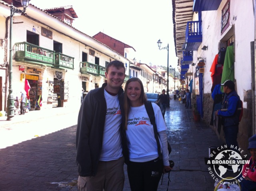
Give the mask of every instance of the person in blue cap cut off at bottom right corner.
M 241 188 L 242 191 L 256 191 L 256 135 L 249 138 L 248 150 L 252 156 L 250 163 L 243 167 L 242 177 L 244 179 Z

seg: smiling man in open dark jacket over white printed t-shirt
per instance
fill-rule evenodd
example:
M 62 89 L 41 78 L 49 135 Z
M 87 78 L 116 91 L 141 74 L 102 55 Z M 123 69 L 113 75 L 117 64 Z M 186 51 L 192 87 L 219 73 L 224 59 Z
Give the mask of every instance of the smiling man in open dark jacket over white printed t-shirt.
M 112 61 L 107 83 L 91 90 L 80 107 L 76 132 L 79 191 L 122 191 L 124 151 L 122 132 L 124 64 Z M 123 145 L 122 145 L 123 143 Z

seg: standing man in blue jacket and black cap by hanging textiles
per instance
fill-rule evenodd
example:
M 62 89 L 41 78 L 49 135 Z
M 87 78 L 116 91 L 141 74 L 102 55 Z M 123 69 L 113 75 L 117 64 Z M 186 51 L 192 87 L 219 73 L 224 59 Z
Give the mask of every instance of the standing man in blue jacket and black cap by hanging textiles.
M 238 147 L 237 143 L 237 133 L 239 125 L 239 115 L 238 107 L 240 105 L 240 97 L 236 93 L 235 84 L 231 80 L 226 80 L 223 84 L 223 91 L 225 93 L 222 109 L 215 111 L 215 115 L 222 117 L 223 131 L 225 134 L 226 144 L 228 147 L 231 145 Z

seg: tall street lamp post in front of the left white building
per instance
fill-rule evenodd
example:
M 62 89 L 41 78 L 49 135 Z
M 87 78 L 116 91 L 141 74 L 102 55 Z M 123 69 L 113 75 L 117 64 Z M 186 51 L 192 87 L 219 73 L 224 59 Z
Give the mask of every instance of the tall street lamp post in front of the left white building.
M 24 13 L 28 6 L 30 0 L 20 0 L 23 10 L 11 6 L 11 15 L 10 15 L 10 59 L 9 59 L 9 94 L 7 97 L 7 120 L 10 120 L 14 117 L 14 99 L 12 95 L 12 17 L 15 13 Z

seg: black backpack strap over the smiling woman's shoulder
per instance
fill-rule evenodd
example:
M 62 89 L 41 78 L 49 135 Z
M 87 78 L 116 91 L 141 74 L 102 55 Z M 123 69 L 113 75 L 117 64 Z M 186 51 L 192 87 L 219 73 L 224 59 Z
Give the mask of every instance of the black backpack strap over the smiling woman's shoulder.
M 154 136 L 155 136 L 156 144 L 157 144 L 157 152 L 158 152 L 159 158 L 162 159 L 160 142 L 159 142 L 158 132 L 157 132 L 157 128 L 156 128 L 156 118 L 155 118 L 154 109 L 153 109 L 152 103 L 150 101 L 146 101 L 146 103 L 144 105 L 145 105 L 146 111 L 148 113 L 150 123 L 153 125 Z

